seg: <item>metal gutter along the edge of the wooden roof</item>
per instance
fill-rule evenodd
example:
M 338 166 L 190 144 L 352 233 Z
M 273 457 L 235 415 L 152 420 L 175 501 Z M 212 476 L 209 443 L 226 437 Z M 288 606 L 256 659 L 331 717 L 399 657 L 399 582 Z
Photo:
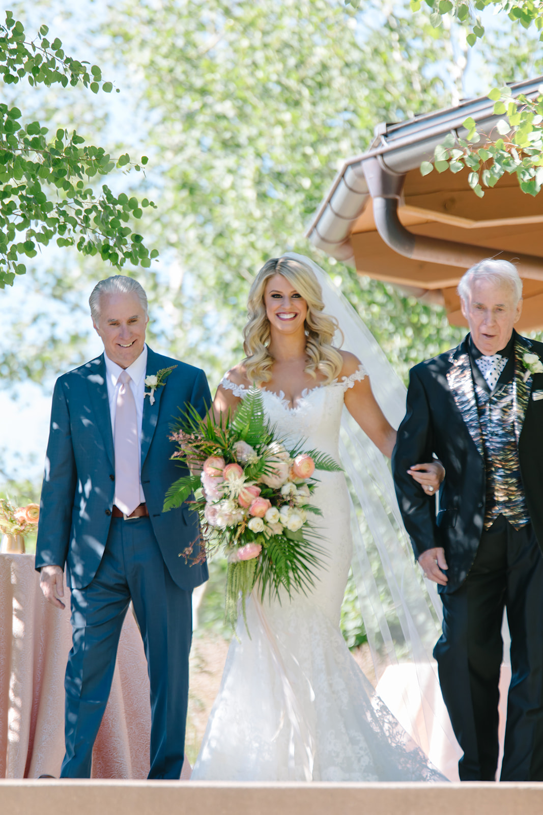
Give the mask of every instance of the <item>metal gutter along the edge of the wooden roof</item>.
M 540 94 L 542 84 L 543 77 L 536 77 L 517 82 L 510 86 L 510 90 L 514 96 L 523 94 L 532 98 Z M 453 131 L 458 138 L 466 138 L 467 131 L 462 123 L 467 117 L 472 117 L 477 122 L 478 129 L 490 134 L 497 121 L 502 118 L 493 114 L 493 106 L 494 103 L 488 97 L 480 96 L 461 103 L 456 108 L 445 108 L 396 125 L 388 125 L 384 133 L 383 126 L 378 126 L 376 131 L 382 143 L 344 162 L 305 235 L 313 245 L 332 257 L 353 262 L 353 249 L 348 237 L 352 224 L 357 221 L 370 196 L 363 165 L 369 159 L 379 157 L 379 162 L 386 170 L 403 175 L 414 170 L 422 161 L 430 159 L 445 134 Z M 434 262 L 439 261 L 434 258 Z

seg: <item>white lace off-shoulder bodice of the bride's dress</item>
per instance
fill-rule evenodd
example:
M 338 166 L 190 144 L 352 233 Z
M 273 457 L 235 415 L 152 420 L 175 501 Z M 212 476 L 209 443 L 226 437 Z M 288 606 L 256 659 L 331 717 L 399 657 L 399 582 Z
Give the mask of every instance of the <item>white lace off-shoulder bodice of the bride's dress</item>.
M 304 439 L 309 447 L 337 459 L 345 392 L 366 376 L 366 368 L 360 364 L 350 377 L 335 379 L 329 385 L 305 388 L 294 407 L 290 406 L 282 391 L 276 394 L 273 390 L 261 388 L 269 421 L 287 441 L 297 443 Z M 222 378 L 221 385 L 226 390 L 231 390 L 239 399 L 243 399 L 249 392 L 245 385 L 237 385 L 227 376 Z

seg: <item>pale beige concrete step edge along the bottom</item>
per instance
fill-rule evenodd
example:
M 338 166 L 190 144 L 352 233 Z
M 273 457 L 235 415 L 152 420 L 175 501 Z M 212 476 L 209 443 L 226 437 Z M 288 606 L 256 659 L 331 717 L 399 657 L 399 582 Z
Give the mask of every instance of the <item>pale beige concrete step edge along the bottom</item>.
M 2 815 L 526 815 L 541 783 L 0 781 Z

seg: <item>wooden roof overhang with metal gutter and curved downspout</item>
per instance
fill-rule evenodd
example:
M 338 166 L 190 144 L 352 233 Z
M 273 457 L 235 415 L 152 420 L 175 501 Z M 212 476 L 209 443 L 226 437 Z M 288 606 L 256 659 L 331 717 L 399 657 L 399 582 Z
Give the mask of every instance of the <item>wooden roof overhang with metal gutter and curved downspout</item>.
M 543 77 L 510 86 L 512 95 L 540 94 Z M 528 196 L 515 175 L 505 175 L 478 198 L 467 170 L 419 167 L 453 132 L 466 138 L 462 122 L 477 122 L 492 136 L 500 117 L 487 97 L 456 108 L 379 126 L 373 146 L 344 162 L 307 231 L 313 245 L 359 274 L 403 287 L 427 302 L 444 305 L 449 321 L 466 324 L 456 293 L 466 268 L 482 258 L 515 262 L 523 278 L 519 328 L 543 327 L 543 196 Z

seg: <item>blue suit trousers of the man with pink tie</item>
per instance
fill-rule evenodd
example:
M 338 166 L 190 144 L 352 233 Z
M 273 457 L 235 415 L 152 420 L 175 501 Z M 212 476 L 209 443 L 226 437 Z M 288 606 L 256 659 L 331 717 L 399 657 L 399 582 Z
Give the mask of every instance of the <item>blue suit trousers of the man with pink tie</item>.
M 94 739 L 112 686 L 130 600 L 151 686 L 149 778 L 179 778 L 185 751 L 191 596 L 169 575 L 149 518 L 112 518 L 94 579 L 85 588 L 72 589 L 61 778 L 90 778 Z

